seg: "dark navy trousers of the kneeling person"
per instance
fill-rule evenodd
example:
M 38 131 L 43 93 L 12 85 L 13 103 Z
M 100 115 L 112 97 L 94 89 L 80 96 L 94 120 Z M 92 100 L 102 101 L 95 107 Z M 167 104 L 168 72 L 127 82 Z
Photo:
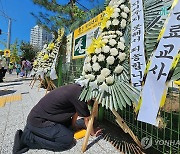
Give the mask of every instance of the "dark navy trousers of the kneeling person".
M 21 140 L 29 149 L 64 151 L 75 145 L 73 137 L 73 132 L 61 124 L 52 123 L 44 128 L 27 124 Z

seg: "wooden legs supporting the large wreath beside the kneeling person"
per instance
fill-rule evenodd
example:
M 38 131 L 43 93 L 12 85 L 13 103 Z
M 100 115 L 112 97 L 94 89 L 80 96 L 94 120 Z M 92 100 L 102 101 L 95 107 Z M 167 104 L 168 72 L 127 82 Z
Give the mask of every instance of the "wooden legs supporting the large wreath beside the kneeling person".
M 96 101 L 94 102 L 93 109 L 92 109 L 92 112 L 91 112 L 91 116 L 90 116 L 90 119 L 89 119 L 89 122 L 88 122 L 86 135 L 85 135 L 84 142 L 83 142 L 83 145 L 82 145 L 82 152 L 85 152 L 85 151 L 86 151 L 87 143 L 88 143 L 88 140 L 89 140 L 89 136 L 90 136 L 90 133 L 91 133 L 91 130 L 92 130 L 92 127 L 93 127 L 93 123 L 94 123 L 94 117 L 95 117 L 95 115 L 97 114 L 97 111 L 98 111 L 98 101 L 96 100 Z M 120 117 L 120 115 L 119 115 L 114 109 L 112 110 L 112 113 L 115 115 L 115 117 L 116 117 L 116 122 L 117 122 L 118 125 L 122 128 L 122 130 L 123 130 L 125 133 L 128 133 L 128 134 L 133 138 L 134 142 L 135 142 L 140 148 L 142 148 L 141 142 L 139 141 L 139 139 L 137 138 L 137 136 L 134 135 L 134 133 L 132 132 L 132 130 L 127 126 L 127 124 L 126 124 L 126 123 L 124 122 L 124 120 Z

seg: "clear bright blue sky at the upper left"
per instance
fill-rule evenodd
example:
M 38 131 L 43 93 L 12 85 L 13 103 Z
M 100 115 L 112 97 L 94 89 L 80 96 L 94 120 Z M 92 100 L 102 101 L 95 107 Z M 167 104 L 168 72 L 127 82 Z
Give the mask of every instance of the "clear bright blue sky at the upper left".
M 30 14 L 31 12 L 38 14 L 38 12 L 46 12 L 45 9 L 34 5 L 33 0 L 0 0 L 0 50 L 6 47 L 1 42 L 7 42 L 8 19 L 3 17 L 3 12 L 12 18 L 11 26 L 11 44 L 16 39 L 20 42 L 30 41 L 30 30 L 36 25 L 36 19 Z M 70 0 L 57 0 L 61 4 L 66 4 Z M 97 4 L 103 5 L 104 0 L 77 0 L 80 4 L 88 9 L 95 7 Z M 90 3 L 94 1 L 93 3 Z

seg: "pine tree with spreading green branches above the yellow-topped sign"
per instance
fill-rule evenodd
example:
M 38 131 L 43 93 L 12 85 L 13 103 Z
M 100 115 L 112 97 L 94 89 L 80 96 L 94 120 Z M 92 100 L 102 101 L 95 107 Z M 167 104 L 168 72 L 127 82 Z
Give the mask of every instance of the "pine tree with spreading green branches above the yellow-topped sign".
M 38 24 L 53 32 L 57 32 L 57 29 L 62 27 L 66 28 L 66 31 L 72 32 L 85 21 L 101 12 L 99 7 L 88 10 L 76 0 L 69 0 L 66 5 L 61 5 L 56 0 L 33 0 L 33 2 L 51 12 L 39 12 L 39 15 L 31 14 L 37 19 Z

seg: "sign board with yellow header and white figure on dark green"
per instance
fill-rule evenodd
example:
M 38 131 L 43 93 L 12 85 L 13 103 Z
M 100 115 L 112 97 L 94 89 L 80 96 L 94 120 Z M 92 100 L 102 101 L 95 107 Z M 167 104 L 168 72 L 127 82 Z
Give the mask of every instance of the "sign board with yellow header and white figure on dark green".
M 85 49 L 91 44 L 93 38 L 97 38 L 100 32 L 100 24 L 103 13 L 94 17 L 74 31 L 73 59 L 83 58 L 86 55 Z

